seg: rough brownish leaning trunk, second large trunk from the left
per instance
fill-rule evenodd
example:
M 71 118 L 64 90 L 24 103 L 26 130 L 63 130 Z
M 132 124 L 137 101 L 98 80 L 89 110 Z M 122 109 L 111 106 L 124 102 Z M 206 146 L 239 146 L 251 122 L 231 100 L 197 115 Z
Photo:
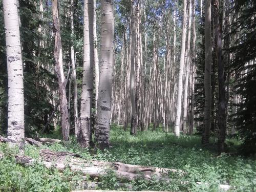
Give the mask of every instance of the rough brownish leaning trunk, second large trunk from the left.
M 61 127 L 62 136 L 65 141 L 69 140 L 69 114 L 68 114 L 68 101 L 66 96 L 65 88 L 65 76 L 63 72 L 62 64 L 62 46 L 60 37 L 60 23 L 59 23 L 59 13 L 58 13 L 58 0 L 53 0 L 52 2 L 52 15 L 53 15 L 53 31 L 55 40 L 55 71 L 58 77 L 58 91 L 59 91 L 59 103 L 61 111 Z

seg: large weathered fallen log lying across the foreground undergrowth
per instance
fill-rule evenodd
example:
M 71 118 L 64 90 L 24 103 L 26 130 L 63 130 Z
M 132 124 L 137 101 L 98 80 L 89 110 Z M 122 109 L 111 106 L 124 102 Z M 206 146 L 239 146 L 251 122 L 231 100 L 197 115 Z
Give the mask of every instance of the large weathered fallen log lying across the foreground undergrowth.
M 39 160 L 34 160 L 28 156 L 16 156 L 16 162 L 26 166 L 41 163 L 47 168 L 56 168 L 60 172 L 66 168 L 70 168 L 72 172 L 80 172 L 84 176 L 89 175 L 91 178 L 104 176 L 108 174 L 108 170 L 112 170 L 118 179 L 126 179 L 129 181 L 136 178 L 142 178 L 145 180 L 164 180 L 170 182 L 168 177 L 170 172 L 185 175 L 185 172 L 178 169 L 131 165 L 120 162 L 88 161 L 81 158 L 78 154 L 70 152 L 53 152 L 50 150 L 40 150 Z M 197 184 L 200 185 L 202 183 L 197 182 Z M 230 189 L 230 186 L 219 185 L 219 188 L 220 190 L 227 191 Z

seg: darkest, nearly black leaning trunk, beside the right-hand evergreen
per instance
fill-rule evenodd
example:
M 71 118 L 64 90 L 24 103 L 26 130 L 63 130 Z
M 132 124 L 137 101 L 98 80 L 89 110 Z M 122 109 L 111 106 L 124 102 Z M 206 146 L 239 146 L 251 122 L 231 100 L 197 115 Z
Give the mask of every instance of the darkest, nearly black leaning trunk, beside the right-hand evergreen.
M 219 18 L 219 4 L 218 0 L 214 3 L 214 18 L 215 18 L 215 35 L 216 35 L 216 56 L 218 63 L 218 85 L 219 85 L 219 102 L 218 102 L 218 151 L 219 154 L 225 150 L 226 140 L 226 97 L 225 97 L 225 76 L 224 76 L 224 62 L 221 46 L 221 22 Z

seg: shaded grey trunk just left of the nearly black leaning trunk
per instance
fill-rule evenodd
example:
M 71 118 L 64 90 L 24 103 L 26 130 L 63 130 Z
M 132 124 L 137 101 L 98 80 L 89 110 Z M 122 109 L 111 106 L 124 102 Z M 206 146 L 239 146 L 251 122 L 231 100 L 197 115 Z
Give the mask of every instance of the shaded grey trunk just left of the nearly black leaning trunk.
M 211 128 L 211 0 L 205 0 L 204 130 L 202 143 L 210 141 Z

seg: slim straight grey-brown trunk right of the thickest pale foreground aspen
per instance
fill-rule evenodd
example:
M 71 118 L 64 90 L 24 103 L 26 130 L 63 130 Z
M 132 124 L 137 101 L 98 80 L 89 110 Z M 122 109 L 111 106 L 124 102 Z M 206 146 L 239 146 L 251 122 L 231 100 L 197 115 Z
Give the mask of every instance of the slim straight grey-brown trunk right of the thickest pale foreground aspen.
M 130 94 L 132 105 L 132 117 L 131 117 L 131 135 L 136 134 L 137 130 L 137 113 L 136 113 L 136 101 L 135 101 L 135 1 L 132 0 L 132 18 L 131 18 L 131 74 L 130 74 Z

